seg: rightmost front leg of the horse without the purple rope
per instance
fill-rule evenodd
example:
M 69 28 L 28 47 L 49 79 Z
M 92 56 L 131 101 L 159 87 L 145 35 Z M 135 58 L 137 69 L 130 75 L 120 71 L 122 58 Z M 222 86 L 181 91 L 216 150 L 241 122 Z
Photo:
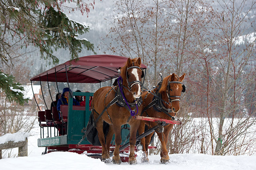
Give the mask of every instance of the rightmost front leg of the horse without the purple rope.
M 171 129 L 173 128 L 173 124 L 170 124 L 169 126 L 166 126 L 163 130 L 163 136 L 164 136 L 164 142 L 161 141 L 161 136 L 162 136 L 162 133 L 160 133 L 160 136 L 158 135 L 160 141 L 161 141 L 161 144 L 162 144 L 162 150 L 161 150 L 161 153 L 160 153 L 160 156 L 161 156 L 161 163 L 163 164 L 167 164 L 170 162 L 170 158 L 169 158 L 169 155 L 168 155 L 168 151 L 167 151 L 167 141 L 168 141 L 168 137 L 169 137 L 169 132 L 171 131 Z

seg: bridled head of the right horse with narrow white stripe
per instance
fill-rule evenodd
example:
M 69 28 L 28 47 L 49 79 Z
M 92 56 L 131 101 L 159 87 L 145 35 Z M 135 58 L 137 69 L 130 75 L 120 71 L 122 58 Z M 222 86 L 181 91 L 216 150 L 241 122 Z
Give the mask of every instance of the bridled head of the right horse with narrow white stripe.
M 181 83 L 185 77 L 184 73 L 180 78 L 175 74 L 167 76 L 162 81 L 161 88 L 159 92 L 163 97 L 167 98 L 169 101 L 169 106 L 172 112 L 177 113 L 180 110 L 180 98 L 181 92 L 185 92 L 185 85 Z

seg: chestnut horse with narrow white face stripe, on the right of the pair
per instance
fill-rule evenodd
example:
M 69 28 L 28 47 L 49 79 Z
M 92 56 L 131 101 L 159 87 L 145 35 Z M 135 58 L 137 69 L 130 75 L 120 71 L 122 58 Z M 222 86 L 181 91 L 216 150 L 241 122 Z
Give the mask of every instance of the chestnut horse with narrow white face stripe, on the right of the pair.
M 184 77 L 185 77 L 185 74 L 183 74 L 179 78 L 175 73 L 165 77 L 163 81 L 160 84 L 158 84 L 158 86 L 153 90 L 153 92 L 156 95 L 158 95 L 159 98 L 155 97 L 151 93 L 143 92 L 142 94 L 143 111 L 141 113 L 142 116 L 172 120 L 174 116 L 176 116 L 176 113 L 179 112 L 180 110 L 181 92 L 185 92 L 185 85 L 181 83 Z M 160 99 L 162 99 L 165 102 L 163 102 Z M 158 100 L 158 102 L 152 105 L 152 103 L 154 103 L 153 100 Z M 148 107 L 151 105 L 152 107 Z M 139 127 L 139 134 L 144 133 L 145 124 L 149 126 L 149 128 L 152 128 L 153 126 L 157 125 L 157 123 L 155 122 L 141 121 L 141 124 Z M 156 131 L 162 145 L 162 150 L 160 153 L 161 163 L 164 163 L 164 164 L 169 162 L 169 156 L 168 156 L 166 144 L 168 141 L 168 134 L 173 128 L 173 125 L 174 124 L 168 124 L 164 126 L 163 133 Z M 147 155 L 148 155 L 147 150 L 148 150 L 148 145 L 150 144 L 152 135 L 153 133 L 141 139 L 141 144 L 143 145 L 143 150 L 142 150 L 143 156 L 141 158 L 141 162 L 149 162 L 147 158 Z

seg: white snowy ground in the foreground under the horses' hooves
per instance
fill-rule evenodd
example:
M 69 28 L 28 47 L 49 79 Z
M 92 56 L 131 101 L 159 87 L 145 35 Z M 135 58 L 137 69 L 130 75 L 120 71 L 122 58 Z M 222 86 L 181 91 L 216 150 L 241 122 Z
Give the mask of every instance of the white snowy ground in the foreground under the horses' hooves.
M 245 155 L 212 156 L 204 154 L 172 154 L 169 155 L 170 164 L 168 165 L 160 164 L 159 155 L 150 155 L 150 164 L 142 164 L 140 162 L 140 152 L 137 153 L 137 165 L 128 165 L 128 163 L 122 163 L 121 165 L 114 165 L 113 163 L 105 164 L 101 162 L 100 159 L 94 159 L 86 155 L 79 155 L 72 152 L 52 152 L 46 155 L 41 155 L 44 148 L 37 147 L 37 139 L 40 137 L 40 129 L 36 128 L 30 132 L 30 134 L 32 135 L 28 137 L 28 157 L 13 157 L 15 154 L 17 154 L 17 149 L 14 149 L 11 152 L 11 158 L 0 159 L 1 170 L 45 170 L 46 168 L 56 170 L 256 170 L 256 156 Z

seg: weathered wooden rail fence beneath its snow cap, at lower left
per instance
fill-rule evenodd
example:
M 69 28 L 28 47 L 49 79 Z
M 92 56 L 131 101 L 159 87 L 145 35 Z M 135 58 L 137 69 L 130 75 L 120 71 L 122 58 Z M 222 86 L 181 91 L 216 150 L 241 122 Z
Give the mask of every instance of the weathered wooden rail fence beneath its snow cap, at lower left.
M 11 148 L 19 148 L 18 156 L 28 156 L 28 139 L 24 141 L 8 141 L 0 144 L 0 159 L 2 159 L 2 150 L 3 149 L 11 149 Z

